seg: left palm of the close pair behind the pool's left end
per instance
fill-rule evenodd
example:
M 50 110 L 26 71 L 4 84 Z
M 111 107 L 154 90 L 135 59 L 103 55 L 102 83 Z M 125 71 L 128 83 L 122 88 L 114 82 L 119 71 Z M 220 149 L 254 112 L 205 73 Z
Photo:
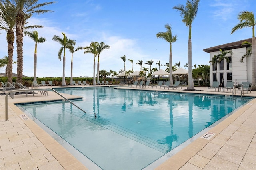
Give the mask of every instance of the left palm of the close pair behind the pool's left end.
M 61 55 L 63 52 L 63 71 L 62 71 L 62 86 L 66 86 L 66 79 L 65 79 L 65 64 L 66 64 L 66 48 L 70 47 L 71 45 L 75 44 L 74 40 L 70 40 L 69 38 L 66 37 L 65 33 L 62 32 L 63 35 L 63 39 L 60 38 L 59 36 L 54 35 L 52 40 L 60 43 L 60 45 L 62 45 L 62 47 L 60 47 L 60 50 L 58 52 L 58 57 L 61 61 Z

